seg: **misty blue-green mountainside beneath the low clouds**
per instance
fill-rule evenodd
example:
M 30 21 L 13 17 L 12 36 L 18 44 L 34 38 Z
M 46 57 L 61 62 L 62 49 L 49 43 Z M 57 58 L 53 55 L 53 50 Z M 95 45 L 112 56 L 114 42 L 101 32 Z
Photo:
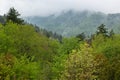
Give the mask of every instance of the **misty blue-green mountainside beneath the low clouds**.
M 25 20 L 63 36 L 74 36 L 82 32 L 86 34 L 94 33 L 100 24 L 105 24 L 109 29 L 116 31 L 120 25 L 120 14 L 68 11 L 47 17 L 26 17 Z

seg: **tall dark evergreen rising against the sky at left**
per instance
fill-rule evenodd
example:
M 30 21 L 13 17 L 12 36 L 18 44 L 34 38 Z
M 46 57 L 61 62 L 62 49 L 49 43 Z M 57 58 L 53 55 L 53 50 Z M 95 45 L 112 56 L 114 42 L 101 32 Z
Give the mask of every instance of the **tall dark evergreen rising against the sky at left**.
M 12 21 L 17 24 L 24 24 L 24 20 L 19 18 L 20 14 L 14 8 L 10 8 L 9 12 L 5 16 L 6 22 Z

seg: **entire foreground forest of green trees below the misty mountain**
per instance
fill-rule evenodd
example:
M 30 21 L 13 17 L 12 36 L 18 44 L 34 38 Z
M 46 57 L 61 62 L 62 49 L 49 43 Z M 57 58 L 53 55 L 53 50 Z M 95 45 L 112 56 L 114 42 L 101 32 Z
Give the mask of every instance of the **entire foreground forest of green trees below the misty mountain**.
M 64 37 L 10 8 L 0 24 L 0 80 L 120 80 L 120 34 L 104 24 Z

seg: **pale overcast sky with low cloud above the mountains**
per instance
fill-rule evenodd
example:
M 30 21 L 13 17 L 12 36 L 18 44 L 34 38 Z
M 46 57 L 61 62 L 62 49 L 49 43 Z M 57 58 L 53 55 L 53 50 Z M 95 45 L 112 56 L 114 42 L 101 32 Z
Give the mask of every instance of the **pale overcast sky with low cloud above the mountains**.
M 70 9 L 120 13 L 120 0 L 0 0 L 0 15 L 10 7 L 22 16 L 45 16 Z

